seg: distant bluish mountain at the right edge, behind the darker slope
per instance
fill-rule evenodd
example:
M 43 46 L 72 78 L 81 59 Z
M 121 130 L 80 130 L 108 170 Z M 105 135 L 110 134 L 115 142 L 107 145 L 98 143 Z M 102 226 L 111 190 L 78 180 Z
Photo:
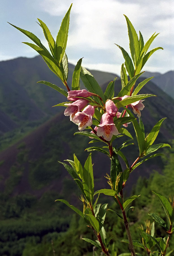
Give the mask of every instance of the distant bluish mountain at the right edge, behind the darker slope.
M 142 74 L 143 77 L 154 77 L 153 82 L 161 90 L 166 92 L 169 96 L 174 98 L 174 71 L 168 71 L 165 74 L 160 74 L 157 72 L 148 72 Z

